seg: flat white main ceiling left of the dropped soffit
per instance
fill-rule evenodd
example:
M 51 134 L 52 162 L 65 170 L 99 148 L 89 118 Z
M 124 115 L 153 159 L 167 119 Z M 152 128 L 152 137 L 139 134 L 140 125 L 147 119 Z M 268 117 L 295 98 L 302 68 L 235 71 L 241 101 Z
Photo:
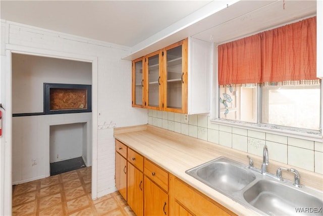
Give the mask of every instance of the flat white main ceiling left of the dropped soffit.
M 211 1 L 1 1 L 1 19 L 133 47 Z

